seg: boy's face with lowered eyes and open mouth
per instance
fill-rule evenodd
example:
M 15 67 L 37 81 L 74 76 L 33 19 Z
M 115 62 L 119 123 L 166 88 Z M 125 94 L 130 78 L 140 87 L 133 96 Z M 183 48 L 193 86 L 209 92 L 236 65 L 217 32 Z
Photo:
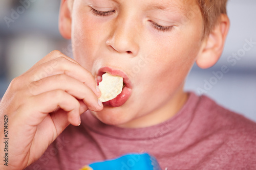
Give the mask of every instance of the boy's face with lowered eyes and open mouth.
M 136 127 L 154 125 L 161 116 L 177 112 L 202 35 L 196 1 L 75 0 L 75 60 L 97 81 L 104 72 L 129 79 L 119 98 L 106 103 L 96 117 L 106 124 Z

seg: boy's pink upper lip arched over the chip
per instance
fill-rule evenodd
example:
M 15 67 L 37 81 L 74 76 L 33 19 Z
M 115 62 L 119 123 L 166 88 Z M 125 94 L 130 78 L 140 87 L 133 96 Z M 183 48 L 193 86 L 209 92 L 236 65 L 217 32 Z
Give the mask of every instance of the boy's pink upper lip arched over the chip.
M 125 84 L 125 87 L 132 88 L 132 83 L 131 83 L 129 77 L 125 74 L 124 71 L 119 70 L 119 69 L 114 69 L 114 68 L 111 68 L 111 67 L 102 67 L 102 68 L 100 68 L 98 70 L 97 77 L 101 77 L 102 78 L 102 75 L 105 74 L 105 72 L 108 72 L 112 76 L 120 76 L 120 77 L 122 77 L 123 78 L 123 83 Z M 97 83 L 99 83 L 98 79 L 97 79 Z

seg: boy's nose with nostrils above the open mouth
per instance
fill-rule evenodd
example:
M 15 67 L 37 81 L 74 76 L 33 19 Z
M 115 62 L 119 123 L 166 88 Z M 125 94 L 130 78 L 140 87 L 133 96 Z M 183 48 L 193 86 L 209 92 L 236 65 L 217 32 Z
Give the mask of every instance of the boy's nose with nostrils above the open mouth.
M 138 28 L 132 18 L 116 18 L 106 45 L 118 53 L 135 57 L 139 51 L 138 35 Z

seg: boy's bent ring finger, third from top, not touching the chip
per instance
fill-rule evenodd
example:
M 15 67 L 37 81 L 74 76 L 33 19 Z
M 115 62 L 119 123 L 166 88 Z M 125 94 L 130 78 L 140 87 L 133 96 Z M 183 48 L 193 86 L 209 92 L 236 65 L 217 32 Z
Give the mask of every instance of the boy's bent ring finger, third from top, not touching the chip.
M 27 99 L 26 103 L 28 103 L 26 106 L 24 105 L 19 109 L 23 115 L 16 116 L 20 120 L 19 122 L 26 125 L 39 125 L 49 113 L 56 111 L 56 109 L 62 109 L 67 113 L 67 115 L 62 115 L 67 116 L 66 120 L 62 119 L 63 125 L 68 122 L 74 126 L 80 124 L 80 104 L 72 95 L 63 90 L 58 89 L 32 96 Z

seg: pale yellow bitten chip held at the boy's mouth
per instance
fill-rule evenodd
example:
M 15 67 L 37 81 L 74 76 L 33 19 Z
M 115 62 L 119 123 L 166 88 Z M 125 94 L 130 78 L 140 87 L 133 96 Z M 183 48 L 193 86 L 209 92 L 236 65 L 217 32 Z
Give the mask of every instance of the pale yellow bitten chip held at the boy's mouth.
M 106 72 L 102 75 L 102 81 L 99 83 L 99 89 L 101 91 L 99 100 L 101 102 L 107 102 L 116 98 L 116 96 L 122 92 L 122 88 L 123 78 L 119 76 L 112 76 Z

